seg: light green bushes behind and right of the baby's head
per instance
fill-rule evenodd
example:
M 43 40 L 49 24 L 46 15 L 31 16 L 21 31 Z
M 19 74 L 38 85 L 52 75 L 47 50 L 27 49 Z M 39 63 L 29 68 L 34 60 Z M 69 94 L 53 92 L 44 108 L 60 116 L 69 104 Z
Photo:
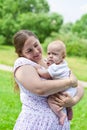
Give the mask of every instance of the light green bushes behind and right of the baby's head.
M 65 32 L 60 29 L 59 33 L 51 33 L 51 37 L 46 38 L 44 41 L 43 48 L 46 52 L 48 44 L 53 41 L 60 39 L 66 45 L 66 51 L 68 56 L 78 56 L 87 58 L 87 39 L 79 38 L 72 32 Z

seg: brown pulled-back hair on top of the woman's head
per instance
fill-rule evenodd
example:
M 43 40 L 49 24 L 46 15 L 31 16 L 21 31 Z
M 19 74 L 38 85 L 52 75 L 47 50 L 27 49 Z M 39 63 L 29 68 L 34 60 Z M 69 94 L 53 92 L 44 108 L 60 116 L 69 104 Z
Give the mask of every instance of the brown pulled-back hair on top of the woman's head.
M 38 39 L 37 36 L 29 30 L 20 30 L 14 35 L 13 44 L 15 46 L 15 52 L 19 57 L 22 56 L 22 49 L 25 41 L 31 36 L 34 36 L 36 39 Z

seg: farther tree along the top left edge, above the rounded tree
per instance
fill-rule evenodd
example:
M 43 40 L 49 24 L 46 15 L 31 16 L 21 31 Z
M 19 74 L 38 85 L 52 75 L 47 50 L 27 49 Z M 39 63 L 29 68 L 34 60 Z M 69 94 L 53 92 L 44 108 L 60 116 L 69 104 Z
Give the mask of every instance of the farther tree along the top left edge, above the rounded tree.
M 46 0 L 0 0 L 0 7 L 2 17 L 7 13 L 12 13 L 16 17 L 18 14 L 26 12 L 46 13 L 49 11 Z

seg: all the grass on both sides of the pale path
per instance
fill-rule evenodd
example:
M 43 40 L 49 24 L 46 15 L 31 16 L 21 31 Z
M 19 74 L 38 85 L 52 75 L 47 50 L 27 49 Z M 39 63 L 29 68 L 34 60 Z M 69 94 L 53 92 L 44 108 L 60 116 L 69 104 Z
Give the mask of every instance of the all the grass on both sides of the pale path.
M 3 57 L 4 56 L 4 57 Z M 16 59 L 13 47 L 0 46 L 0 63 L 13 65 Z M 80 80 L 87 81 L 87 60 L 84 58 L 67 58 L 70 68 Z M 74 118 L 71 130 L 87 129 L 87 88 L 83 99 L 73 107 Z M 21 110 L 19 94 L 14 92 L 13 74 L 0 70 L 0 130 L 12 130 Z

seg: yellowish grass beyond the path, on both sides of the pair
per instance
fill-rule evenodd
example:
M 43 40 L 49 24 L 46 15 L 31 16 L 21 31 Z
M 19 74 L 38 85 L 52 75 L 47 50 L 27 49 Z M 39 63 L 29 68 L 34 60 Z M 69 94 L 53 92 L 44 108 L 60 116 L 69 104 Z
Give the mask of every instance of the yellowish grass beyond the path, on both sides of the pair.
M 17 55 L 13 46 L 0 45 L 0 64 L 13 66 Z M 87 59 L 79 57 L 66 58 L 69 67 L 74 72 L 79 80 L 87 81 Z

